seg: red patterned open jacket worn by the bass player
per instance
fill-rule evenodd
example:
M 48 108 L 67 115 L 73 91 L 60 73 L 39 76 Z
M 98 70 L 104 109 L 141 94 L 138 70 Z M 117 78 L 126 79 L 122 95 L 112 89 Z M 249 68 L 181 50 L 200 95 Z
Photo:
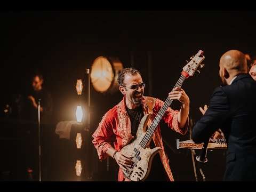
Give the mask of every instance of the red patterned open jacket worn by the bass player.
M 147 113 L 147 107 L 145 103 L 145 97 L 143 96 L 142 100 L 143 111 Z M 153 115 L 151 115 L 151 121 L 155 118 L 158 111 L 164 105 L 162 100 L 156 98 L 156 104 L 153 108 Z M 167 123 L 173 131 L 181 133 L 182 135 L 186 134 L 188 131 L 188 119 L 184 127 L 180 128 L 178 126 L 178 110 L 173 110 L 170 107 L 167 108 L 165 114 L 162 117 L 162 120 Z M 119 102 L 115 107 L 107 111 L 107 113 L 102 117 L 101 122 L 97 130 L 92 135 L 93 145 L 97 149 L 100 161 L 108 157 L 106 151 L 111 147 L 111 143 L 114 142 L 115 150 L 120 151 L 124 146 L 129 144 L 129 142 L 134 138 L 131 134 L 131 121 L 127 111 L 125 109 L 125 96 L 123 100 Z M 166 170 L 167 175 L 171 181 L 174 181 L 173 175 L 167 160 L 167 157 L 164 153 L 164 146 L 160 131 L 159 124 L 156 127 L 156 130 L 153 134 L 153 141 L 156 147 L 161 147 L 162 150 L 159 151 L 161 161 L 163 163 L 164 169 Z M 125 178 L 121 168 L 118 172 L 118 181 L 129 181 L 128 178 Z

